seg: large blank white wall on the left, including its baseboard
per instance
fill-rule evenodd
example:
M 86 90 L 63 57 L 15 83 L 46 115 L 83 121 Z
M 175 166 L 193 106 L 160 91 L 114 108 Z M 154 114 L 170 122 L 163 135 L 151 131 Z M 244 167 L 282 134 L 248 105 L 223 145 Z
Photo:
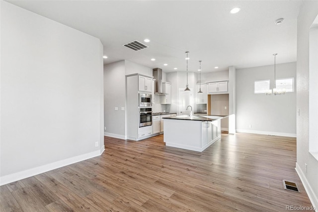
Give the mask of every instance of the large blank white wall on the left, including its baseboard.
M 100 40 L 0 4 L 0 184 L 100 155 Z

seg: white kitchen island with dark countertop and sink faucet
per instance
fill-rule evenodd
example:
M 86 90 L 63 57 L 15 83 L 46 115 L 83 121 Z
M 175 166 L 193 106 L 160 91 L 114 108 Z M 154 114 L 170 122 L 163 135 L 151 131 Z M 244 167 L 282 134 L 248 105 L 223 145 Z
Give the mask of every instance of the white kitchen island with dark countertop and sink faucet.
M 177 115 L 164 118 L 166 146 L 202 152 L 221 138 L 220 120 L 227 115 Z

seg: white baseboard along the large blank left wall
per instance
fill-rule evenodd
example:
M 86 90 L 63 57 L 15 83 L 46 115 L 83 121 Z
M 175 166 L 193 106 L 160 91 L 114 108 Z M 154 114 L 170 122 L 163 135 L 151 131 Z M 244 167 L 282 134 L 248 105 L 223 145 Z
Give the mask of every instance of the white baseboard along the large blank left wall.
M 73 163 L 77 163 L 79 161 L 83 161 L 83 160 L 87 160 L 89 158 L 99 156 L 99 155 L 101 155 L 101 153 L 103 153 L 104 150 L 105 150 L 105 146 L 103 145 L 100 149 L 93 151 L 93 152 L 89 152 L 89 153 L 78 155 L 78 156 L 75 156 L 72 158 L 60 160 L 60 161 L 46 164 L 43 166 L 28 169 L 25 171 L 2 176 L 2 177 L 0 177 L 0 186 L 15 182 L 18 180 L 22 180 L 22 179 L 25 179 L 28 177 L 32 177 L 32 176 L 35 176 L 35 175 L 38 175 L 38 174 L 41 174 L 44 172 L 48 172 L 48 171 L 51 171 L 53 169 L 61 168 L 63 166 L 67 166 L 67 165 L 70 165 Z

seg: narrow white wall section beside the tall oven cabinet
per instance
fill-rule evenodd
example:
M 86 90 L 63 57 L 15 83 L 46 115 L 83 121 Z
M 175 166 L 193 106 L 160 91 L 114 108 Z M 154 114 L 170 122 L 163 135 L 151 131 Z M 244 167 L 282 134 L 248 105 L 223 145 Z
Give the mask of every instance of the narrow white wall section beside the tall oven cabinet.
M 125 61 L 104 65 L 104 130 L 105 135 L 125 135 Z M 118 110 L 115 110 L 118 107 Z

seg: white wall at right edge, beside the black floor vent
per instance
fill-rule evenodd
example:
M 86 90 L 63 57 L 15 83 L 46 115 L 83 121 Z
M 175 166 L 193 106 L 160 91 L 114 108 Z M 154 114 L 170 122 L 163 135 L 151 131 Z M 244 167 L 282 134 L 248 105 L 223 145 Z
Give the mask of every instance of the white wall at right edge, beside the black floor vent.
M 296 170 L 316 208 L 318 160 L 309 153 L 309 29 L 317 14 L 318 1 L 304 1 L 297 20 L 297 109 L 300 109 L 300 114 L 297 115 L 296 163 Z

